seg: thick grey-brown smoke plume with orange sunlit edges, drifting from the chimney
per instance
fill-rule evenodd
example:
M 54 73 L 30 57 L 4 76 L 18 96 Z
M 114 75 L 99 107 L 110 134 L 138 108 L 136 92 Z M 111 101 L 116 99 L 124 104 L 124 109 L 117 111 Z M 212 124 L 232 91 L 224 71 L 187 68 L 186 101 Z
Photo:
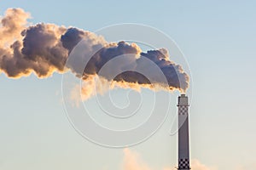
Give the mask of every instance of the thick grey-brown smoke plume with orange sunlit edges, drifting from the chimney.
M 142 53 L 135 43 L 107 42 L 101 36 L 74 27 L 66 28 L 44 23 L 31 26 L 27 22 L 29 18 L 30 14 L 23 9 L 9 8 L 1 19 L 0 72 L 3 71 L 8 77 L 29 76 L 32 72 L 38 77 L 49 77 L 54 72 L 72 70 L 78 77 L 87 81 L 88 77 L 98 76 L 102 66 L 109 60 L 119 55 L 132 54 L 129 65 L 146 68 L 147 65 L 142 59 L 144 57 L 160 68 L 168 82 L 167 90 L 184 91 L 189 87 L 189 76 L 180 65 L 169 59 L 164 48 Z M 82 75 L 76 68 L 76 61 L 73 61 L 72 66 L 66 65 L 68 55 L 81 40 L 84 41 L 85 53 L 90 54 L 95 48 L 100 48 L 96 54 L 90 56 L 87 65 L 84 65 Z M 86 54 L 83 56 L 88 57 Z M 127 59 L 121 65 L 124 66 Z M 154 75 L 154 72 L 149 71 L 149 74 Z M 148 87 L 150 84 L 147 77 L 136 71 L 125 71 L 113 78 L 109 78 L 108 75 L 103 78 L 110 83 L 119 84 L 119 87 L 125 87 L 127 84 Z M 157 78 L 155 80 L 157 82 Z M 162 82 L 157 83 L 161 85 Z

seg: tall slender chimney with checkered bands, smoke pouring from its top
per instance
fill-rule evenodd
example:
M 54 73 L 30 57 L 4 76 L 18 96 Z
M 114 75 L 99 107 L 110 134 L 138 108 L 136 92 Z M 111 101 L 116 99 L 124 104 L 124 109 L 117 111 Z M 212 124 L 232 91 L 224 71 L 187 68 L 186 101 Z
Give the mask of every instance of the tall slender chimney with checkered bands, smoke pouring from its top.
M 178 108 L 178 170 L 189 170 L 189 102 L 185 94 L 177 99 Z

